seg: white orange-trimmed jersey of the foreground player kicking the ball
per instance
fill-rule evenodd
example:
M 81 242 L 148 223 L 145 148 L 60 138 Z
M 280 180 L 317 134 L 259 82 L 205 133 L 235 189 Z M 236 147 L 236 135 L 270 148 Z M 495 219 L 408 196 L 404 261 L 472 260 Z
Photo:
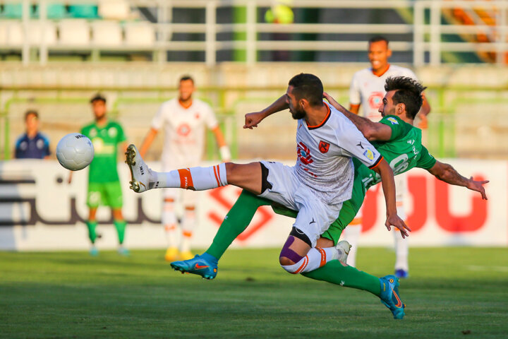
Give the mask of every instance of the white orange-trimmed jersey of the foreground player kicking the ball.
M 317 126 L 298 120 L 296 177 L 321 201 L 337 204 L 351 198 L 353 162 L 357 157 L 373 168 L 382 156 L 344 114 L 327 105 L 328 114 Z

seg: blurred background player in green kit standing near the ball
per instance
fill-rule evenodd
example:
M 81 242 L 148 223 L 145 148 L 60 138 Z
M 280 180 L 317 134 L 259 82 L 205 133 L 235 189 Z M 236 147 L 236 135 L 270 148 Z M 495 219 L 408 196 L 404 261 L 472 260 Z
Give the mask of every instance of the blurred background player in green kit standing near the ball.
M 90 100 L 95 121 L 83 126 L 81 133 L 90 138 L 94 145 L 94 159 L 90 163 L 88 172 L 88 194 L 87 206 L 90 208 L 88 220 L 88 237 L 92 242 L 90 254 L 97 256 L 99 251 L 95 246 L 97 239 L 97 208 L 109 206 L 113 215 L 113 223 L 119 237 L 119 254 L 128 255 L 127 249 L 123 246 L 126 222 L 122 215 L 122 191 L 120 187 L 119 174 L 116 169 L 118 148 L 121 145 L 122 152 L 127 148 L 126 135 L 121 125 L 107 117 L 106 98 L 100 94 Z M 71 172 L 72 173 L 72 172 Z M 71 177 L 70 177 L 71 178 Z M 69 182 L 71 179 L 69 179 Z

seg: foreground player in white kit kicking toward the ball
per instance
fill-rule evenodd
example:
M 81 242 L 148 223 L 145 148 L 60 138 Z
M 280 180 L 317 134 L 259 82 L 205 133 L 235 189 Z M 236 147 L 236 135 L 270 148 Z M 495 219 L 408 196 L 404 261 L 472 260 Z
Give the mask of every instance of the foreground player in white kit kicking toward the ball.
M 155 172 L 147 167 L 135 146 L 130 145 L 126 162 L 131 170 L 131 189 L 143 192 L 180 187 L 200 191 L 232 184 L 298 210 L 294 227 L 279 255 L 282 268 L 296 274 L 315 270 L 339 255 L 335 247 L 319 249 L 315 245 L 320 234 L 337 219 L 342 202 L 351 198 L 351 157 L 357 157 L 380 174 L 387 203 L 385 225 L 388 229 L 393 225 L 408 235 L 409 227 L 397 215 L 392 169 L 344 114 L 322 101 L 322 95 L 322 83 L 312 74 L 301 73 L 289 81 L 285 99 L 291 115 L 298 119 L 297 159 L 293 167 L 267 161 L 242 165 L 229 162 Z M 244 128 L 257 126 L 274 112 L 268 109 L 247 114 Z M 195 270 L 210 268 L 200 263 L 200 256 L 190 261 Z M 212 278 L 214 274 L 203 276 Z

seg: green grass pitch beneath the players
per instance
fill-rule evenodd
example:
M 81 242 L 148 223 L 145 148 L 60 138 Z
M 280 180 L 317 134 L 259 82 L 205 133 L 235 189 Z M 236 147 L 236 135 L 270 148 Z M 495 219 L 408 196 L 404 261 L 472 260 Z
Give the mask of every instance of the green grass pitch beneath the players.
M 368 292 L 286 273 L 278 250 L 231 250 L 212 281 L 163 251 L 0 252 L 1 338 L 507 338 L 507 249 L 411 249 L 404 320 Z M 394 253 L 358 267 L 392 273 Z

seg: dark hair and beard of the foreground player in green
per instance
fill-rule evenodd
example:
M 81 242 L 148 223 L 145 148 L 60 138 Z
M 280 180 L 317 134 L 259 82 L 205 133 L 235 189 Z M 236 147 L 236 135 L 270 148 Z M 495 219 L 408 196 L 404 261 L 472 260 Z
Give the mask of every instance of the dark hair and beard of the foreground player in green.
M 409 78 L 408 76 L 397 76 L 394 78 L 387 78 L 385 83 L 385 90 L 395 90 L 392 100 L 395 105 L 406 105 L 406 117 L 414 119 L 416 114 L 420 111 L 423 104 L 422 93 L 426 87 L 421 83 Z

